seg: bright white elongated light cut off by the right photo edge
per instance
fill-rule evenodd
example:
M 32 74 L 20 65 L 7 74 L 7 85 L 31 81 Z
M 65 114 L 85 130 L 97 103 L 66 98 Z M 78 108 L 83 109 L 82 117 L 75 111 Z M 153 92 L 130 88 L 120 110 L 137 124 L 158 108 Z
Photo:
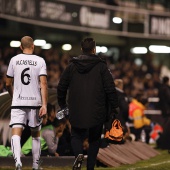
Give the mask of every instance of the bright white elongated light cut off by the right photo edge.
M 170 47 L 165 45 L 150 45 L 149 50 L 153 53 L 170 53 Z

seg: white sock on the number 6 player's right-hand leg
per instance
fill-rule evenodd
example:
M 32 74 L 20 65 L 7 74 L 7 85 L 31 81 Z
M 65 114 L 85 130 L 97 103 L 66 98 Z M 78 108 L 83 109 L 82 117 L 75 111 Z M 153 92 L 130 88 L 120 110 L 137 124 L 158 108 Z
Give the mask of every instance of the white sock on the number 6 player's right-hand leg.
M 33 156 L 33 168 L 38 169 L 39 159 L 41 154 L 40 137 L 32 138 L 32 156 Z

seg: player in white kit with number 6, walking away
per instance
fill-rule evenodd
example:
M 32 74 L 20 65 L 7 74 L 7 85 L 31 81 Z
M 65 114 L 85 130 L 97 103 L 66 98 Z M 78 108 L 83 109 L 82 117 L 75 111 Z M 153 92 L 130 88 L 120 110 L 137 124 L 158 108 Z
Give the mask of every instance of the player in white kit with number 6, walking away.
M 11 58 L 6 78 L 6 88 L 12 97 L 11 149 L 16 170 L 22 169 L 20 139 L 23 127 L 28 126 L 32 135 L 33 170 L 39 168 L 40 129 L 42 117 L 47 112 L 47 72 L 43 58 L 33 55 L 34 43 L 29 36 L 21 39 L 22 54 Z

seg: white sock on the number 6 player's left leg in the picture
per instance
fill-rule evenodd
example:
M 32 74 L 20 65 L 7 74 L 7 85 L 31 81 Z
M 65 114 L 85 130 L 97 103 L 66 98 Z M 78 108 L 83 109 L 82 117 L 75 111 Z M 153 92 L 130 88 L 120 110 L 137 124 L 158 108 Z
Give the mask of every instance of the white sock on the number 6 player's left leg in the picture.
M 15 165 L 17 166 L 21 163 L 21 143 L 20 143 L 21 137 L 18 135 L 13 135 L 11 137 L 11 149 L 13 152 L 14 160 L 15 160 Z

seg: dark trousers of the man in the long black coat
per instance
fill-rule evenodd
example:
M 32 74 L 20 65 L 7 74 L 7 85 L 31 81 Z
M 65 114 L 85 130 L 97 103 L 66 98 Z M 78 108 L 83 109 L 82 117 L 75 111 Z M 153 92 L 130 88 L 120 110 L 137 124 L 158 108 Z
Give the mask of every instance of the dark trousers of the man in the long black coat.
M 88 138 L 88 158 L 87 158 L 87 170 L 94 170 L 96 163 L 96 157 L 100 147 L 100 139 L 103 125 L 97 125 L 89 129 L 80 129 L 72 127 L 71 129 L 71 146 L 75 157 L 79 154 L 83 154 L 83 141 Z

